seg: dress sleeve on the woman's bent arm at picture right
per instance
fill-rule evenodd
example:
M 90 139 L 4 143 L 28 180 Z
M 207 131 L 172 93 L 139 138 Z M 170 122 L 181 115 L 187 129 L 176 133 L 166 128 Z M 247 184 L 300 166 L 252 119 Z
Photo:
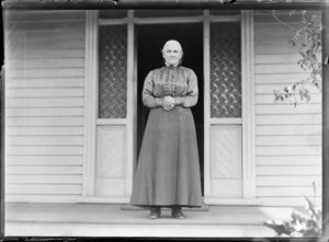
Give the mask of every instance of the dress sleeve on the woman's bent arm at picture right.
M 188 78 L 188 93 L 185 96 L 174 97 L 175 105 L 184 107 L 195 106 L 198 97 L 197 78 L 193 70 L 191 70 Z

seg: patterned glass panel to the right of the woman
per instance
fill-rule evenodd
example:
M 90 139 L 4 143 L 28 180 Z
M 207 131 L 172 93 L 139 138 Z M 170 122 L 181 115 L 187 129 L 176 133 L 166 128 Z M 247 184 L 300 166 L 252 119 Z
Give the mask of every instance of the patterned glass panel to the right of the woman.
M 240 24 L 211 25 L 211 117 L 241 117 Z

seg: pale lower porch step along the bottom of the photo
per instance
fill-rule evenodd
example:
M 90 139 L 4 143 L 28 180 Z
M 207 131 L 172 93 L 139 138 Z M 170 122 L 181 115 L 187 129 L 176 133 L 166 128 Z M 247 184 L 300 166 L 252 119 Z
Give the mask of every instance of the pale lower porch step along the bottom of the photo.
M 7 222 L 7 237 L 118 238 L 269 238 L 273 230 L 248 224 L 104 224 L 68 222 Z

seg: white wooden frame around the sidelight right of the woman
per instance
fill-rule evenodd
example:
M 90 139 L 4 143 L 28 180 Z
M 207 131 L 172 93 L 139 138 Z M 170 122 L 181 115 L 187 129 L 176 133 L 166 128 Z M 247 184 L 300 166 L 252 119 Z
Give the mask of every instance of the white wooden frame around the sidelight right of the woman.
M 209 205 L 260 205 L 256 197 L 256 131 L 254 131 L 254 25 L 253 11 L 242 10 L 241 31 L 241 118 L 225 118 L 225 124 L 242 126 L 242 197 L 219 198 L 212 195 L 212 126 L 224 124 L 218 118 L 211 118 L 211 23 L 217 22 L 208 11 L 204 11 L 204 201 Z M 218 20 L 219 22 L 220 20 Z

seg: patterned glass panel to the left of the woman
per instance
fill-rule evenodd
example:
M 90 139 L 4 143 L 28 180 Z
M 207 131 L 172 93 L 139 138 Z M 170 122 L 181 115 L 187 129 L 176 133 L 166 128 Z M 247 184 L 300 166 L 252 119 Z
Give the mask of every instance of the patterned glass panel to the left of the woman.
M 127 27 L 100 26 L 99 118 L 125 118 L 127 111 Z

